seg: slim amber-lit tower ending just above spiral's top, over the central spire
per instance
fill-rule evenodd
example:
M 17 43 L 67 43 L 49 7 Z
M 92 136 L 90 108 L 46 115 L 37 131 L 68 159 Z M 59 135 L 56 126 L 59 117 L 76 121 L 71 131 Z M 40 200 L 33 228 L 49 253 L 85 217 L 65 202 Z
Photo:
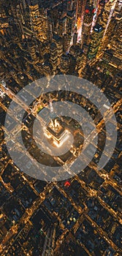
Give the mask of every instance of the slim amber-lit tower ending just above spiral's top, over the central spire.
M 52 42 L 50 45 L 50 64 L 52 64 L 53 70 L 55 71 L 58 65 L 58 52 L 55 42 Z

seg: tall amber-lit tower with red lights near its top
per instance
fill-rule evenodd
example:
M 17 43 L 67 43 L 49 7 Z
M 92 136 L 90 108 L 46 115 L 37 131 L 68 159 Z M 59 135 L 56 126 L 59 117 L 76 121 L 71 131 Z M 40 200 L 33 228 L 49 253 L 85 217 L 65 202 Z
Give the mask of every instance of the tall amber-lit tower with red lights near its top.
M 82 29 L 82 45 L 89 45 L 90 42 L 90 34 L 91 34 L 91 26 L 94 17 L 94 6 L 86 6 L 85 14 L 83 19 L 83 29 Z

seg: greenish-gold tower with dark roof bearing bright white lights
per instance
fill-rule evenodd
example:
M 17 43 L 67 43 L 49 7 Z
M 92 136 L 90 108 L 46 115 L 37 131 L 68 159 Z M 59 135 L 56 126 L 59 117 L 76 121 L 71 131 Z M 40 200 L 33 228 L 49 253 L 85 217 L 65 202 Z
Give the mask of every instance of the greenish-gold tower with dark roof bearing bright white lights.
M 96 57 L 96 53 L 98 52 L 103 34 L 104 34 L 104 29 L 102 28 L 102 26 L 99 24 L 96 24 L 96 26 L 94 26 L 93 33 L 91 34 L 91 44 L 88 50 L 89 59 L 94 59 Z

